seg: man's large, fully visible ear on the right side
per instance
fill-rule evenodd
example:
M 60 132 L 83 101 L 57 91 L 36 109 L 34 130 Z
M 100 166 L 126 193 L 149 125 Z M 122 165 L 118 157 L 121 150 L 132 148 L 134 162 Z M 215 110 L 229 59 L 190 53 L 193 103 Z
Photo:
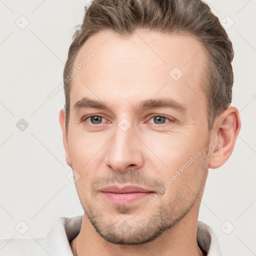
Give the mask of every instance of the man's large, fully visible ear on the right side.
M 231 155 L 240 131 L 241 121 L 238 109 L 228 107 L 215 120 L 211 134 L 209 168 L 221 166 Z

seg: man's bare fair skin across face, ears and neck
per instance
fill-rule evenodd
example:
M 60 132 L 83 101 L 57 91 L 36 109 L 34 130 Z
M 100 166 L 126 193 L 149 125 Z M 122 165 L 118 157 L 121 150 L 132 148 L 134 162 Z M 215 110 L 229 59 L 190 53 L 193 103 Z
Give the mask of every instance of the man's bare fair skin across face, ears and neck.
M 78 177 L 84 209 L 76 254 L 202 255 L 196 242 L 200 200 L 208 168 L 221 166 L 233 150 L 238 110 L 229 107 L 208 130 L 202 89 L 207 58 L 192 36 L 136 30 L 124 38 L 104 30 L 88 38 L 74 66 L 94 48 L 98 54 L 72 79 L 68 132 L 65 112 L 59 112 L 66 162 Z M 183 73 L 178 80 L 169 75 L 173 67 Z M 108 108 L 74 107 L 83 97 Z M 185 110 L 138 108 L 142 100 L 166 97 Z M 89 114 L 103 118 L 93 124 Z M 159 122 L 154 116 L 163 117 Z M 126 131 L 118 126 L 123 118 L 131 125 Z M 153 202 L 146 196 L 117 205 L 99 191 L 133 184 L 156 192 L 196 152 L 200 155 Z M 70 246 L 75 255 L 74 240 Z

